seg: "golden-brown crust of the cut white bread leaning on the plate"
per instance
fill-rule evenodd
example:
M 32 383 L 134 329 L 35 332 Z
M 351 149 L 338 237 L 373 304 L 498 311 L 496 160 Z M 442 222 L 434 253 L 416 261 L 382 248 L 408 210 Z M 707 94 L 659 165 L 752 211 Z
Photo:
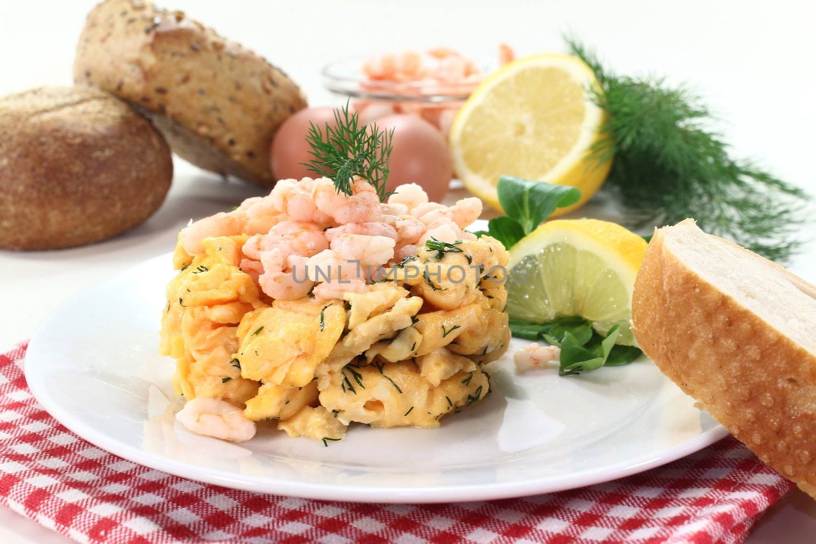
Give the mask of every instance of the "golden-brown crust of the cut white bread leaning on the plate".
M 635 281 L 638 343 L 763 462 L 816 498 L 816 356 L 686 266 L 665 245 L 667 229 L 655 231 Z

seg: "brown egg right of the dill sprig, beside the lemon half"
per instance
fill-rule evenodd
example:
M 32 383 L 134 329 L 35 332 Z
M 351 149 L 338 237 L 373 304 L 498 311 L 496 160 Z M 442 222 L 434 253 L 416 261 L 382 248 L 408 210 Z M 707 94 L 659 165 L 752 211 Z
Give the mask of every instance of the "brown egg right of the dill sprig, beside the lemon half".
M 431 201 L 448 192 L 453 168 L 448 145 L 431 123 L 411 115 L 387 115 L 376 121 L 378 130 L 394 129 L 388 190 L 401 184 L 418 184 Z

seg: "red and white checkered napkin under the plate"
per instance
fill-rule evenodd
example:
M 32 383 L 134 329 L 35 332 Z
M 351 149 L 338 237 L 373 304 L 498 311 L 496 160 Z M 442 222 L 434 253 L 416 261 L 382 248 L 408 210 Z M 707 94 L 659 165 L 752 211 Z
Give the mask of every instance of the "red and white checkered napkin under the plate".
M 732 438 L 565 493 L 354 504 L 200 484 L 125 461 L 31 396 L 25 345 L 0 355 L 0 503 L 78 542 L 742 542 L 793 484 Z

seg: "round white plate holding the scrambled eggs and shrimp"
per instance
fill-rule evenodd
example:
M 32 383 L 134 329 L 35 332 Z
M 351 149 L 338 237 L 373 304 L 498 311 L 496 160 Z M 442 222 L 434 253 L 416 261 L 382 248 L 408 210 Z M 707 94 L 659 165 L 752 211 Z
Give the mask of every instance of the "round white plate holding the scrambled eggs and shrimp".
M 291 439 L 272 428 L 243 444 L 175 422 L 173 361 L 157 355 L 171 257 L 82 291 L 31 340 L 25 376 L 71 431 L 171 474 L 237 489 L 356 502 L 453 502 L 573 489 L 657 467 L 725 436 L 649 360 L 560 378 L 517 375 L 514 339 L 490 365 L 494 392 L 435 430 L 350 427 Z

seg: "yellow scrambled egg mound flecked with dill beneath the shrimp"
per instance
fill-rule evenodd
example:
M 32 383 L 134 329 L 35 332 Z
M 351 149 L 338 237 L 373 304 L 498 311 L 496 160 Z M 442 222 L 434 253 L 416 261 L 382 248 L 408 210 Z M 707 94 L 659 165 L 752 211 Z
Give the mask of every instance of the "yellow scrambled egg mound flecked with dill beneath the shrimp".
M 327 444 L 352 422 L 439 427 L 490 391 L 480 365 L 510 336 L 498 241 L 422 247 L 366 293 L 316 303 L 268 299 L 241 269 L 246 239 L 206 238 L 195 257 L 175 250 L 160 352 L 188 400 L 226 400 Z

